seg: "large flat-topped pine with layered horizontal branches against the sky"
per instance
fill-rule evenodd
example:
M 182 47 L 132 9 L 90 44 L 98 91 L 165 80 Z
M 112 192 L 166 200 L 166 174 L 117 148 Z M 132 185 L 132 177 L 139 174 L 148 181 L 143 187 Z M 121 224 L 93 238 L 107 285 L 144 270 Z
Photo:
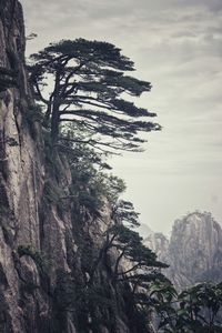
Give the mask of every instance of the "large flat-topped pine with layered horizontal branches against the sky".
M 138 151 L 145 141 L 139 132 L 161 129 L 144 121 L 155 113 L 131 101 L 150 91 L 151 83 L 125 74 L 134 71 L 134 63 L 111 43 L 84 39 L 51 43 L 31 56 L 28 69 L 34 95 L 46 105 L 44 125 L 54 144 L 65 140 L 60 131 L 64 122 L 87 131 L 81 142 L 112 152 Z

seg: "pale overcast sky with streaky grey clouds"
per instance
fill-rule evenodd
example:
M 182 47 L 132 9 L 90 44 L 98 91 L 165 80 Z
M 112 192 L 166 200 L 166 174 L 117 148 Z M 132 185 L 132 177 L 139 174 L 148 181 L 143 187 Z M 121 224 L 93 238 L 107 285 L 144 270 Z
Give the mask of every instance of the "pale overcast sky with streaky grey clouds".
M 153 88 L 135 103 L 158 113 L 143 153 L 112 158 L 140 221 L 169 234 L 175 219 L 210 211 L 222 223 L 222 1 L 21 0 L 27 53 L 52 41 L 108 41 Z

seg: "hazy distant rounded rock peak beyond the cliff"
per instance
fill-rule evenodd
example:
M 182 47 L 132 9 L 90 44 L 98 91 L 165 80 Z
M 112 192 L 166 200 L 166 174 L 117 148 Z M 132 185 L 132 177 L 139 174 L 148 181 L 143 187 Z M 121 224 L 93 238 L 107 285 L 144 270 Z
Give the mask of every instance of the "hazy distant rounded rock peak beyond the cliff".
M 210 213 L 194 212 L 176 220 L 170 241 L 153 233 L 145 242 L 170 264 L 167 275 L 180 290 L 222 280 L 222 230 Z

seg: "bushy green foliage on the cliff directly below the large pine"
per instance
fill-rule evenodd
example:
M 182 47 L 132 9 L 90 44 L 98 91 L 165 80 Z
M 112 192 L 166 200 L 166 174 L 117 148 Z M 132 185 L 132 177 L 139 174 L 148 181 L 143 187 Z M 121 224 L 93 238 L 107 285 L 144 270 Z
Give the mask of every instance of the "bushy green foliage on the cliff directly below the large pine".
M 73 138 L 74 133 L 82 135 L 79 128 L 69 127 L 63 131 L 69 138 Z M 104 153 L 78 142 L 65 142 L 64 147 L 60 145 L 59 151 L 67 157 L 72 175 L 70 195 L 63 195 L 65 200 L 71 200 L 77 210 L 84 206 L 91 213 L 99 213 L 105 202 L 110 205 L 117 204 L 125 184 L 122 179 L 108 173 L 111 167 L 105 163 Z M 49 155 L 48 153 L 48 159 Z M 50 163 L 54 164 L 54 160 Z

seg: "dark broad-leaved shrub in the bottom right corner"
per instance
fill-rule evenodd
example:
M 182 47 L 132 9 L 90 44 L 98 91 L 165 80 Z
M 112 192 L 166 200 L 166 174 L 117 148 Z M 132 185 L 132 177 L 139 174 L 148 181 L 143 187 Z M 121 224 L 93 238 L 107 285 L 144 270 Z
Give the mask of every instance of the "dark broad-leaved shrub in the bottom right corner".
M 149 297 L 147 305 L 158 314 L 160 332 L 222 332 L 222 283 L 199 283 L 178 294 L 172 284 L 159 282 L 150 287 Z

